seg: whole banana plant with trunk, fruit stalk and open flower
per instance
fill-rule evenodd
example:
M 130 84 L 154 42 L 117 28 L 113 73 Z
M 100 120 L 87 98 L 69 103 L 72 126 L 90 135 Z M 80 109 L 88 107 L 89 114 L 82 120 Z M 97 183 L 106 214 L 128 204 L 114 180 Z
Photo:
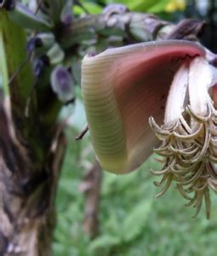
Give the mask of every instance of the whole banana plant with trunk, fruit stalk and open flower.
M 62 107 L 75 102 L 74 86 L 81 82 L 77 63 L 87 53 L 83 59 L 83 100 L 101 165 L 110 172 L 131 172 L 151 154 L 152 146 L 159 145 L 156 133 L 163 143 L 156 151 L 168 155 L 163 172 L 156 173 L 164 175 L 165 188 L 173 179 L 183 192 L 182 187 L 191 181 L 189 191 L 200 191 L 191 203 L 199 208 L 205 195 L 210 207 L 207 191 L 209 187 L 215 189 L 215 183 L 207 177 L 213 172 L 204 171 L 204 161 L 209 157 L 212 164 L 215 159 L 211 134 L 215 128 L 214 104 L 210 100 L 215 97 L 215 69 L 210 67 L 215 61 L 213 54 L 197 43 L 168 41 L 197 41 L 203 22 L 186 20 L 174 26 L 155 15 L 129 12 L 123 5 L 111 5 L 100 15 L 77 17 L 73 15 L 76 4 L 70 0 L 30 0 L 26 5 L 0 1 L 1 255 L 52 254 L 54 195 L 66 148 L 59 114 Z M 165 42 L 144 43 L 163 39 Z M 135 44 L 139 42 L 143 43 Z M 113 49 L 124 44 L 132 45 Z M 106 48 L 111 49 L 95 55 Z M 207 91 L 203 84 L 202 90 L 198 88 L 200 96 L 206 96 L 203 103 L 210 112 L 203 118 L 204 108 L 197 113 L 197 107 L 192 107 L 195 98 L 186 93 L 186 88 L 190 91 L 192 87 L 191 74 L 197 78 L 197 68 L 207 70 L 201 73 L 204 79 L 211 78 Z M 187 85 L 176 85 L 179 77 L 184 82 L 189 78 Z M 176 101 L 179 107 L 174 108 Z M 165 106 L 167 114 L 161 126 Z M 177 116 L 170 112 L 171 106 Z M 184 125 L 180 122 L 183 113 L 190 115 Z M 150 128 L 147 120 L 151 115 L 159 125 L 150 119 Z M 169 126 L 170 121 L 174 125 Z M 188 138 L 190 131 L 196 134 Z M 186 155 L 193 153 L 177 145 L 196 152 L 193 159 L 200 166 L 198 177 L 197 166 L 188 172 L 193 177 L 184 176 L 186 165 L 194 165 L 186 163 Z M 179 162 L 177 166 L 175 162 L 173 166 L 173 158 L 178 161 L 180 155 L 185 156 L 181 158 L 185 164 Z

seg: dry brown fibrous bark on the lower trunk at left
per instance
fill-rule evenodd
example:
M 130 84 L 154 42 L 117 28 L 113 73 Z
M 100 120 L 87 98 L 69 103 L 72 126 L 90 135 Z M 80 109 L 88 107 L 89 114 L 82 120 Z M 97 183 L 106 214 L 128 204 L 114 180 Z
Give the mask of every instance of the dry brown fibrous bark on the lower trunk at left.
M 0 255 L 49 256 L 54 195 L 65 151 L 62 135 L 42 165 L 16 137 L 9 103 L 0 104 Z

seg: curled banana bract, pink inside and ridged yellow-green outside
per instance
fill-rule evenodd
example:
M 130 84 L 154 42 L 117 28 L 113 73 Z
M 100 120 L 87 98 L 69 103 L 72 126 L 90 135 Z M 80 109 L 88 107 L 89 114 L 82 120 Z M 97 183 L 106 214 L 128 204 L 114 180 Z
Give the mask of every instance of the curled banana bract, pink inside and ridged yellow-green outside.
M 187 41 L 133 44 L 83 59 L 82 93 L 95 154 L 108 172 L 131 172 L 157 146 L 148 119 L 163 123 L 174 74 L 204 56 Z

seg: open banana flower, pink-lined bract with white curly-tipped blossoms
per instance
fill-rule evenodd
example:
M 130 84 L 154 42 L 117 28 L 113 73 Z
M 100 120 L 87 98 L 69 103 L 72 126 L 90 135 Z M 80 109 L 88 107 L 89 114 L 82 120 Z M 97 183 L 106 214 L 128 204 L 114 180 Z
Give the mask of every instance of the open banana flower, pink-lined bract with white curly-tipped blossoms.
M 108 172 L 134 171 L 163 156 L 163 195 L 174 181 L 197 208 L 217 192 L 217 69 L 197 43 L 133 44 L 83 59 L 82 92 L 90 137 Z M 154 147 L 154 148 L 153 148 Z M 191 197 L 191 193 L 193 196 Z

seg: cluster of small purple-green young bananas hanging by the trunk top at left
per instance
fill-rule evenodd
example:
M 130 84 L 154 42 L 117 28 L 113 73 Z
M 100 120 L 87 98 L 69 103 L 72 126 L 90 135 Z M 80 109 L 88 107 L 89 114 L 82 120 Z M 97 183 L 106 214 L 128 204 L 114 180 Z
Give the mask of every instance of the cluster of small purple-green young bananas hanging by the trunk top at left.
M 55 35 L 57 26 L 72 20 L 72 0 L 30 0 L 28 5 L 14 0 L 3 0 L 0 9 L 6 9 L 9 19 L 26 28 L 29 35 L 26 50 L 29 61 L 33 57 L 36 79 L 49 67 L 50 84 L 63 103 L 74 99 L 73 79 L 66 63 L 65 51 Z

